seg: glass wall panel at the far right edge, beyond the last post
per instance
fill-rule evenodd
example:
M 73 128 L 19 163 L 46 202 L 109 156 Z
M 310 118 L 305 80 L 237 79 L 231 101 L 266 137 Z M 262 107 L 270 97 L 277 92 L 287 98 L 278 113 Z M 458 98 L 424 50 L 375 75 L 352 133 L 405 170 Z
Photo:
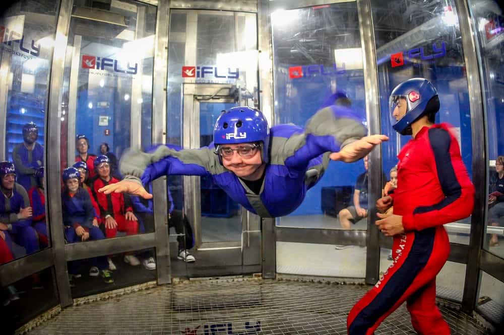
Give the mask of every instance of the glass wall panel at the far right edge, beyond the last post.
M 504 257 L 504 16 L 497 2 L 469 1 L 477 31 L 478 60 L 488 130 L 488 218 L 484 246 Z M 500 240 L 500 243 L 499 243 Z

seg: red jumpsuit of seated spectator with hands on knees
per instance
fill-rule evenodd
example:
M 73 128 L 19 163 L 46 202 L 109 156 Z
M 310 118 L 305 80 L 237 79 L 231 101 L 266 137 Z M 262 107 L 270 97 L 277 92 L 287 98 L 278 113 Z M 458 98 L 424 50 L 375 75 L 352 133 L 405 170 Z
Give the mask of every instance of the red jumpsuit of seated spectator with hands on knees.
M 113 177 L 110 178 L 110 181 L 108 183 L 101 178 L 97 178 L 92 185 L 93 197 L 95 198 L 100 209 L 101 222 L 103 222 L 103 224 L 105 223 L 105 217 L 107 215 L 111 215 L 117 222 L 116 228 L 105 228 L 106 238 L 115 237 L 117 230 L 125 231 L 127 235 L 138 234 L 138 221 L 126 220 L 126 218 L 124 217 L 124 214 L 126 212 L 133 211 L 131 201 L 128 201 L 128 204 L 125 204 L 124 202 L 124 197 L 128 197 L 128 195 L 124 196 L 122 193 L 114 192 L 110 194 L 98 192 L 98 190 L 102 187 L 118 182 L 119 181 Z

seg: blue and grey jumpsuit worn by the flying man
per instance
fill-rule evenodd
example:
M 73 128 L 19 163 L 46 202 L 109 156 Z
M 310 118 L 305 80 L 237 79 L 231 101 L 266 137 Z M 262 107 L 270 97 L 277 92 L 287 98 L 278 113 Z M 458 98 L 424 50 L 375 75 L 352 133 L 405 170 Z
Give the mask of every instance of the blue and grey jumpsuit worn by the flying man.
M 160 146 L 153 153 L 130 151 L 121 159 L 120 170 L 128 176 L 125 180 L 144 185 L 163 175 L 209 176 L 250 212 L 278 217 L 301 204 L 306 191 L 324 174 L 331 152 L 366 133 L 350 109 L 335 105 L 314 114 L 305 129 L 286 124 L 272 127 L 270 161 L 259 194 L 220 163 L 213 143 L 200 149 Z

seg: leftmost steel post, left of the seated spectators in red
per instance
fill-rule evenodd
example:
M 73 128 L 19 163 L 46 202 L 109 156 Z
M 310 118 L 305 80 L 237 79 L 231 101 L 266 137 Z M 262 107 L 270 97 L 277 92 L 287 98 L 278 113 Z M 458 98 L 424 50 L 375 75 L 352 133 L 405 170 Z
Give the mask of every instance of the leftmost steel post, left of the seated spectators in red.
M 70 16 L 72 13 L 72 1 L 62 1 L 59 9 L 59 17 L 56 28 L 56 38 L 54 43 L 54 53 L 51 66 L 51 82 L 49 95 L 49 110 L 47 113 L 46 127 L 46 192 L 47 199 L 47 221 L 50 227 L 62 227 L 63 218 L 61 212 L 61 189 L 59 167 L 60 152 L 59 145 L 61 138 L 61 87 L 63 86 L 63 74 L 65 69 L 65 55 L 68 43 L 68 30 L 70 27 Z M 65 239 L 63 229 L 50 229 L 52 241 L 52 258 L 54 260 L 56 283 L 58 287 L 59 301 L 62 307 L 70 306 L 73 303 L 72 293 L 67 271 L 67 261 L 65 259 Z

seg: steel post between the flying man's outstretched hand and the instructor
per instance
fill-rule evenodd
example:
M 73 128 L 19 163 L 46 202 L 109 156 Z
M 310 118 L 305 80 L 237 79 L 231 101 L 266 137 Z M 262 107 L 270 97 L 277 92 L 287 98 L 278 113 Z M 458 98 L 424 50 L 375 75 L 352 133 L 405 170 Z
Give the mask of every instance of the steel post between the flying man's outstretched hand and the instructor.
M 366 118 L 370 134 L 380 134 L 380 99 L 374 48 L 374 32 L 369 1 L 357 0 L 360 40 L 364 65 L 364 88 L 366 92 Z M 380 231 L 376 228 L 374 202 L 382 196 L 382 151 L 381 147 L 369 154 L 369 213 L 367 216 L 366 283 L 375 284 L 380 274 Z

